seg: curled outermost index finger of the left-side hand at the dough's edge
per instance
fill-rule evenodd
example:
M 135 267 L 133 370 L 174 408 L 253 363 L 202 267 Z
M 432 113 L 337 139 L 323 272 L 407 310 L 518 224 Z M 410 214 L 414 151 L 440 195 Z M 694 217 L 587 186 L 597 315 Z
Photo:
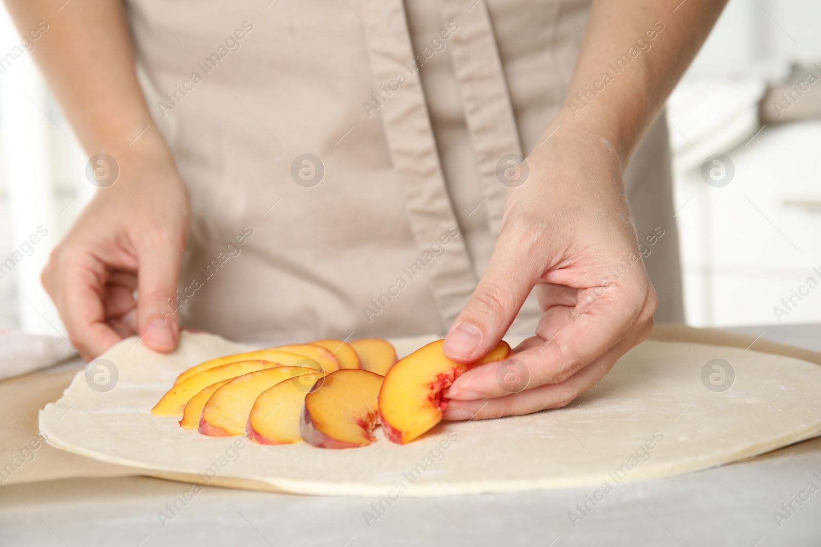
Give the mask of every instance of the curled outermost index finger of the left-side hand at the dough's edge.
M 122 340 L 106 323 L 103 307 L 106 277 L 102 264 L 80 253 L 59 261 L 58 267 L 48 274 L 48 286 L 71 344 L 86 361 Z

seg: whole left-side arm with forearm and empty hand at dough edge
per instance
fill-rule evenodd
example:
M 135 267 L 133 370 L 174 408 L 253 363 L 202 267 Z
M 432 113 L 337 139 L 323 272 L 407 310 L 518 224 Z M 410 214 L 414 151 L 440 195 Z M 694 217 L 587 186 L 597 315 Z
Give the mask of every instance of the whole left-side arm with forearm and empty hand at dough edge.
M 167 299 L 177 292 L 190 203 L 137 79 L 126 2 L 65 2 L 58 16 L 52 0 L 4 2 L 20 33 L 36 40 L 31 54 L 78 144 L 120 169 L 54 249 L 43 285 L 86 360 L 130 335 L 171 351 L 179 318 L 168 315 Z

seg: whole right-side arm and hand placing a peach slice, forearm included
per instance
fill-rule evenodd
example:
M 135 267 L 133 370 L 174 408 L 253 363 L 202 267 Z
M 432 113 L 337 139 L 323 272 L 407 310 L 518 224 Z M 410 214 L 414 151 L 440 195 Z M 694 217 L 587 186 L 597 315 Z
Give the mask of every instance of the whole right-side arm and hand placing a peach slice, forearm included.
M 443 352 L 483 357 L 532 289 L 536 335 L 457 378 L 445 419 L 561 407 L 649 335 L 658 299 L 621 176 L 725 3 L 594 0 L 565 102 L 528 157 L 527 181 L 507 194 L 488 269 Z

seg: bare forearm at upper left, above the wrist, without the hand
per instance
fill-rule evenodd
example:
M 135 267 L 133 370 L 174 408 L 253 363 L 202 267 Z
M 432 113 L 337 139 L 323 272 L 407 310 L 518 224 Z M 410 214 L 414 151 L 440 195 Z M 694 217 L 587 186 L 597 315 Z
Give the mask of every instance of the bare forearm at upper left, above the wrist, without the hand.
M 157 131 L 129 146 L 153 121 L 121 0 L 5 2 L 21 32 L 48 25 L 32 54 L 86 153 L 167 155 Z

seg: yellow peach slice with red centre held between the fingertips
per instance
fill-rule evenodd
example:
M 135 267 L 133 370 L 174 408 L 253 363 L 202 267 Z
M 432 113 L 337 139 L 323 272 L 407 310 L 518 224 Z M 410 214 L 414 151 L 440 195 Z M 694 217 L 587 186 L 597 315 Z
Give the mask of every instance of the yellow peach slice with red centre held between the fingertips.
M 442 421 L 447 408 L 443 391 L 463 372 L 487 362 L 502 361 L 513 352 L 502 340 L 484 358 L 470 364 L 454 362 L 437 340 L 402 358 L 385 376 L 379 392 L 379 414 L 389 440 L 406 444 Z

